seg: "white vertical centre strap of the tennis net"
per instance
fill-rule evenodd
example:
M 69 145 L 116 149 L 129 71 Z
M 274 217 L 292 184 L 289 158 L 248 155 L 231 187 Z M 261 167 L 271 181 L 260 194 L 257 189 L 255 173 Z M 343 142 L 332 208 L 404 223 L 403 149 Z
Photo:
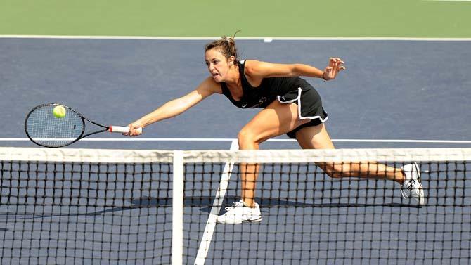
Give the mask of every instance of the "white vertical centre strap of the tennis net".
M 183 151 L 174 151 L 172 265 L 183 264 Z

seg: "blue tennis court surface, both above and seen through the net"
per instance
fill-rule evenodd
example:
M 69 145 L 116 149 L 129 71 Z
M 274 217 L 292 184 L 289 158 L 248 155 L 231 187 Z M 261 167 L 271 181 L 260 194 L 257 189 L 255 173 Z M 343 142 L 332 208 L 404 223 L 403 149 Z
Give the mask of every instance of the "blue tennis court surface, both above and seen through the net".
M 0 54 L 0 60 L 4 62 L 0 64 L 0 110 L 4 114 L 7 129 L 0 134 L 0 145 L 35 147 L 25 137 L 23 122 L 27 112 L 41 103 L 70 105 L 89 119 L 100 123 L 129 124 L 163 103 L 185 95 L 207 76 L 203 50 L 206 42 L 198 39 L 2 38 L 0 51 L 8 52 Z M 471 57 L 471 41 L 274 40 L 266 43 L 262 40 L 243 39 L 237 41 L 237 44 L 242 58 L 273 63 L 307 63 L 322 68 L 330 56 L 338 56 L 345 61 L 347 70 L 332 82 L 308 79 L 323 98 L 324 108 L 329 114 L 327 128 L 337 148 L 471 147 L 468 133 L 471 129 L 468 114 L 468 98 L 471 96 L 471 78 L 468 72 L 471 62 L 466 60 Z M 239 110 L 224 96 L 215 95 L 179 117 L 146 127 L 140 138 L 100 134 L 79 141 L 67 149 L 229 150 L 239 129 L 257 111 Z M 276 141 L 266 142 L 261 147 L 299 148 L 287 136 L 280 136 Z M 195 170 L 197 176 L 188 185 L 195 185 L 195 190 L 203 190 L 199 195 L 184 198 L 183 223 L 186 232 L 183 238 L 186 240 L 184 245 L 188 247 L 188 250 L 184 250 L 184 254 L 188 256 L 184 262 L 188 264 L 195 263 L 194 257 L 199 251 L 201 238 L 205 236 L 203 231 L 211 212 L 208 205 L 213 203 L 225 166 L 222 163 L 217 165 L 217 169 L 187 168 Z M 16 166 L 11 166 L 12 169 L 14 167 Z M 106 175 L 103 181 L 100 177 L 104 175 L 99 174 L 101 166 L 97 165 L 97 168 L 90 170 L 93 173 L 98 171 L 93 176 L 98 179 L 91 179 L 91 183 L 85 184 L 76 179 L 77 174 L 64 174 L 64 179 L 60 181 L 55 179 L 56 174 L 44 174 L 43 179 L 31 182 L 25 174 L 38 170 L 29 167 L 23 169 L 20 165 L 18 167 L 18 174 L 15 175 L 17 179 L 2 179 L 1 183 L 2 198 L 14 195 L 15 198 L 24 199 L 14 202 L 15 205 L 20 205 L 16 209 L 8 206 L 8 201 L 1 201 L 0 216 L 3 217 L 0 220 L 0 235 L 13 244 L 4 245 L 2 253 L 4 257 L 21 257 L 27 253 L 18 251 L 18 246 L 26 244 L 34 249 L 33 256 L 41 258 L 8 259 L 6 262 L 114 263 L 110 259 L 131 260 L 136 264 L 171 262 L 169 246 L 172 242 L 167 238 L 172 233 L 172 208 L 170 202 L 165 200 L 172 195 L 169 191 L 172 183 L 169 168 L 157 170 L 163 176 L 161 180 L 166 183 L 165 186 L 155 186 L 155 180 L 149 173 L 154 172 L 154 169 L 144 167 L 140 169 L 142 172 L 138 177 L 142 181 L 135 186 L 134 183 L 126 182 L 126 168 L 112 169 L 116 173 L 111 177 Z M 273 167 L 267 166 L 266 172 L 273 172 Z M 46 169 L 39 169 L 44 170 Z M 433 194 L 433 198 L 444 198 L 444 201 L 437 199 L 434 202 L 441 206 L 430 207 L 405 204 L 392 183 L 349 180 L 325 184 L 321 181 L 325 176 L 316 173 L 313 168 L 288 168 L 286 173 L 283 171 L 285 168 L 277 170 L 282 173 L 266 176 L 272 181 L 258 184 L 260 191 L 257 198 L 262 207 L 262 215 L 266 216 L 262 224 L 231 227 L 216 225 L 206 253 L 212 259 L 206 260 L 205 264 L 284 264 L 284 259 L 290 260 L 291 264 L 313 264 L 314 260 L 318 264 L 363 264 L 381 262 L 382 257 L 387 257 L 389 264 L 408 263 L 401 253 L 382 250 L 383 244 L 395 244 L 396 249 L 403 250 L 406 256 L 413 253 L 415 264 L 437 264 L 439 260 L 444 263 L 470 260 L 469 253 L 465 252 L 470 249 L 471 241 L 471 183 L 466 178 L 465 166 L 447 164 L 437 169 L 432 165 L 422 164 L 426 175 L 424 177 L 428 177 L 430 181 L 430 195 Z M 281 187 L 283 183 L 290 182 L 290 170 L 296 171 L 297 177 L 314 174 L 314 180 L 318 181 L 306 180 L 302 187 L 281 189 L 283 191 L 280 193 L 271 194 L 271 190 L 275 189 L 273 185 Z M 458 188 L 447 186 L 446 179 L 442 179 L 443 174 L 427 174 L 448 170 L 458 172 L 453 175 Z M 79 169 L 72 167 L 70 171 L 79 172 Z M 3 172 L 6 172 L 6 167 L 2 165 Z M 207 186 L 198 186 L 205 176 L 210 177 L 211 181 L 205 184 Z M 110 190 L 116 188 L 112 183 L 122 185 L 119 189 L 123 189 L 123 193 L 111 194 Z M 231 188 L 224 198 L 223 206 L 236 200 L 240 191 L 237 176 L 231 176 L 228 185 Z M 12 186 L 16 189 L 4 194 L 6 187 Z M 37 186 L 41 187 L 41 194 L 35 193 Z M 378 200 L 368 201 L 373 196 L 368 194 L 370 186 L 386 190 L 386 195 Z M 335 193 L 335 190 L 342 190 L 342 187 L 349 187 L 346 194 Z M 57 188 L 63 190 L 57 193 L 54 191 Z M 304 190 L 304 193 L 311 193 L 297 194 L 296 190 L 299 189 Z M 325 190 L 330 190 L 330 193 L 324 194 Z M 73 201 L 74 192 L 86 194 L 90 200 L 96 198 L 97 206 L 90 207 L 94 203 L 90 201 L 83 202 L 83 205 L 80 201 Z M 101 201 L 101 198 L 112 195 L 122 200 Z M 51 201 L 34 201 L 31 206 L 27 200 L 36 200 L 32 198 L 37 196 Z M 364 201 L 322 199 L 339 196 L 364 198 Z M 446 199 L 453 197 L 464 199 L 458 202 Z M 63 198 L 71 199 L 56 205 L 55 200 L 64 200 Z M 44 207 L 52 206 L 42 209 L 39 214 L 32 213 L 34 207 L 41 203 L 46 205 Z M 455 203 L 458 207 L 453 205 Z M 396 214 L 395 211 L 399 208 L 400 213 Z M 453 212 L 447 212 L 450 209 Z M 296 216 L 296 212 L 304 216 L 302 225 L 297 225 L 292 219 L 285 219 L 283 225 L 280 225 L 277 216 Z M 438 219 L 421 219 L 428 212 L 439 212 L 443 219 L 439 219 L 440 216 Z M 366 217 L 360 217 L 359 220 L 356 216 Z M 401 244 L 407 238 L 399 232 L 393 233 L 396 238 L 389 238 L 391 233 L 385 238 L 382 230 L 401 231 L 401 224 L 410 222 L 411 216 L 418 216 L 420 222 L 430 221 L 434 224 L 414 228 L 419 231 L 417 235 L 413 235 L 413 242 L 417 244 L 403 247 Z M 197 220 L 192 220 L 193 218 Z M 70 227 L 60 227 L 63 224 L 60 219 L 67 219 L 66 223 Z M 383 227 L 383 219 L 392 219 L 393 226 Z M 94 225 L 87 226 L 91 222 Z M 162 226 L 148 226 L 153 223 Z M 365 227 L 365 224 L 371 226 Z M 121 230 L 115 231 L 117 227 Z M 50 233 L 30 233 L 27 234 L 28 238 L 17 240 L 16 228 L 18 231 L 38 231 L 44 228 Z M 455 230 L 461 233 L 458 234 Z M 356 231 L 363 232 L 359 234 Z M 120 238 L 120 233 L 126 233 L 129 237 Z M 141 243 L 141 233 L 148 237 L 150 245 Z M 224 238 L 225 233 L 240 238 Z M 72 238 L 77 235 L 79 238 L 74 241 Z M 243 235 L 248 237 L 242 238 Z M 262 238 L 260 235 L 263 235 Z M 460 237 L 462 245 L 442 240 L 456 235 Z M 93 241 L 98 242 L 97 245 L 87 245 L 90 237 L 95 236 L 101 237 Z M 317 239 L 303 238 L 305 236 Z M 362 239 L 358 242 L 349 240 L 356 237 Z M 25 243 L 26 241 L 30 243 Z M 108 242 L 117 243 L 106 245 Z M 233 242 L 237 242 L 239 249 L 234 249 Z M 240 245 L 246 248 L 240 249 Z M 95 247 L 104 248 L 105 251 L 96 252 Z M 55 250 L 57 248 L 60 250 Z M 370 259 L 364 260 L 360 258 L 361 254 L 357 255 L 363 248 L 373 249 Z M 431 252 L 434 248 L 444 251 Z M 46 259 L 48 255 L 58 258 Z M 118 260 L 112 259 L 115 255 Z M 340 258 L 329 259 L 334 255 Z M 433 259 L 434 255 L 437 255 L 436 259 Z M 155 259 L 156 256 L 160 259 Z

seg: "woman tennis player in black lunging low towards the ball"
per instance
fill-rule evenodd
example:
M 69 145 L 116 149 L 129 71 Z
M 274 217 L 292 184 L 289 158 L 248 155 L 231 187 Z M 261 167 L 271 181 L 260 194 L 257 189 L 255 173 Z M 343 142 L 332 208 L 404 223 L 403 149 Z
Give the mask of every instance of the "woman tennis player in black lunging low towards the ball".
M 137 136 L 138 128 L 179 115 L 214 93 L 223 94 L 238 108 L 262 108 L 238 133 L 240 150 L 259 149 L 269 138 L 287 134 L 297 139 L 302 148 L 335 148 L 324 122 L 328 119 L 317 91 L 300 77 L 332 80 L 345 70 L 340 58 L 330 58 L 325 70 L 303 64 L 277 64 L 258 60 L 239 60 L 232 37 L 223 37 L 205 46 L 205 62 L 209 77 L 191 93 L 176 98 L 148 115 L 129 124 L 129 133 Z M 424 204 L 417 164 L 401 169 L 384 164 L 318 164 L 333 178 L 359 176 L 389 179 L 401 184 L 404 198 Z M 221 224 L 240 224 L 262 220 L 259 205 L 254 201 L 258 167 L 241 165 L 241 200 L 226 208 L 217 217 Z

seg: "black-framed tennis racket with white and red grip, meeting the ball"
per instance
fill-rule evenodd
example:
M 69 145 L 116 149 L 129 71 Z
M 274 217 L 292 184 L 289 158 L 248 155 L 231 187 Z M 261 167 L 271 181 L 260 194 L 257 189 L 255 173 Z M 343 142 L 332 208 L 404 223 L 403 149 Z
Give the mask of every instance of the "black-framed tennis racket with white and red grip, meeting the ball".
M 56 117 L 53 114 L 54 108 L 62 106 L 65 108 L 65 116 Z M 95 124 L 101 129 L 97 131 L 85 132 L 85 121 Z M 142 131 L 141 128 L 138 130 Z M 92 122 L 82 114 L 58 103 L 47 103 L 34 107 L 25 119 L 25 131 L 28 138 L 38 146 L 63 147 L 79 141 L 86 136 L 99 134 L 104 131 L 125 133 L 129 127 L 104 126 Z

